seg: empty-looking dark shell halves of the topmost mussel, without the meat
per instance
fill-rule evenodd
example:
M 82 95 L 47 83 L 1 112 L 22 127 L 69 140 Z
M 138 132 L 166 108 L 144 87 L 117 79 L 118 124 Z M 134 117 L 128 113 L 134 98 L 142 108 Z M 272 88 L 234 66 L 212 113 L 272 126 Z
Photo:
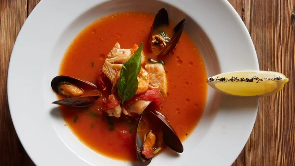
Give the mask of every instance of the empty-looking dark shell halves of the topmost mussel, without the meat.
M 161 58 L 164 57 L 165 55 L 168 55 L 173 49 L 176 47 L 178 40 L 180 39 L 180 36 L 182 34 L 183 28 L 185 24 L 185 19 L 181 20 L 177 26 L 174 28 L 174 35 L 170 39 L 170 41 L 166 44 L 166 46 L 158 53 L 157 57 Z M 157 29 L 160 26 L 168 26 L 169 25 L 169 17 L 168 17 L 168 12 L 165 8 L 161 8 L 153 21 L 153 24 L 151 26 L 150 32 L 149 32 L 149 37 L 148 37 L 148 43 L 149 43 L 149 49 L 152 51 L 152 35 L 154 29 Z

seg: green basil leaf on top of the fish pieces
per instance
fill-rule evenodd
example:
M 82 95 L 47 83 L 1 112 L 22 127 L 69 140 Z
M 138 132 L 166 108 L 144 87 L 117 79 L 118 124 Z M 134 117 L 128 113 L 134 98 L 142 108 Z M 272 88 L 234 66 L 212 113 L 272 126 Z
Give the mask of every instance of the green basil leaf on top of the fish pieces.
M 133 56 L 121 68 L 117 87 L 122 104 L 124 101 L 130 100 L 138 89 L 137 76 L 141 68 L 142 50 L 143 43 L 140 44 Z

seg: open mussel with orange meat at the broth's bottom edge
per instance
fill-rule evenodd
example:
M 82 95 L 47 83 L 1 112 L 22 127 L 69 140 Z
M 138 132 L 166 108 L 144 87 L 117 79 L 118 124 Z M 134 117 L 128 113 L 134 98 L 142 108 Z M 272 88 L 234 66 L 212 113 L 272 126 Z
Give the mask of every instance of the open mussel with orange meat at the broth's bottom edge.
M 151 121 L 152 124 L 147 121 Z M 178 153 L 183 152 L 182 143 L 168 119 L 156 110 L 145 110 L 139 118 L 136 131 L 135 149 L 139 163 L 147 166 L 151 162 L 154 152 L 161 149 L 162 143 Z M 148 151 L 147 147 L 149 149 L 152 149 L 151 147 L 158 148 L 152 151 L 153 154 L 143 153 L 143 151 Z

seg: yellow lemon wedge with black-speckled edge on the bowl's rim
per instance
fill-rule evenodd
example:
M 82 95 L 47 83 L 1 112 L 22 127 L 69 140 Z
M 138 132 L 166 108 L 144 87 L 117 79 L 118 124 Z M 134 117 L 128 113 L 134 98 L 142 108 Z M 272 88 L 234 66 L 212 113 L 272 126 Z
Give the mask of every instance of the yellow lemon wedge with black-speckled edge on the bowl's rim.
M 265 97 L 281 91 L 289 81 L 282 73 L 273 71 L 235 71 L 207 79 L 215 90 L 234 96 Z

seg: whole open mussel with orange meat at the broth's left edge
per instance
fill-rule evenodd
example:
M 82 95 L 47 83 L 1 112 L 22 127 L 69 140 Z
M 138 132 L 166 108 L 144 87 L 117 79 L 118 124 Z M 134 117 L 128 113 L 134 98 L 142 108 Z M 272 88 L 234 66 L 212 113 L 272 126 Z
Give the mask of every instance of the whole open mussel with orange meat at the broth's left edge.
M 73 107 L 86 107 L 93 104 L 99 98 L 99 95 L 82 96 L 84 94 L 82 87 L 85 89 L 97 89 L 93 83 L 78 78 L 65 75 L 54 77 L 51 81 L 51 88 L 56 93 L 67 96 L 68 98 L 52 103 Z

